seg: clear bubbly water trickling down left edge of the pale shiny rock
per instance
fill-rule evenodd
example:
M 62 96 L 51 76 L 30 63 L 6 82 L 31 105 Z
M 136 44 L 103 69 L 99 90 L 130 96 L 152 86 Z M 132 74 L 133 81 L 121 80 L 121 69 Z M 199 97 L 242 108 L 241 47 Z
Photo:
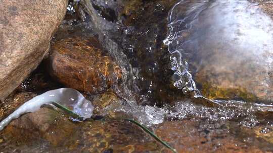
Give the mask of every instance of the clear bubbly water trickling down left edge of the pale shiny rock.
M 175 81 L 173 85 L 178 89 L 183 89 L 183 93 L 185 94 L 188 91 L 195 91 L 196 95 L 200 95 L 199 91 L 196 89 L 192 74 L 189 71 L 186 57 L 187 52 L 182 46 L 184 41 L 183 37 L 189 35 L 191 28 L 187 25 L 186 20 L 188 18 L 195 19 L 205 7 L 203 5 L 204 2 L 194 2 L 195 3 L 180 1 L 170 10 L 168 15 L 169 34 L 164 40 L 164 44 L 168 46 L 168 51 L 172 54 L 170 56 L 171 69 L 175 71 L 172 77 L 173 81 Z M 187 5 L 187 8 L 190 8 L 184 18 L 180 18 L 184 15 L 179 14 L 178 6 L 180 5 Z

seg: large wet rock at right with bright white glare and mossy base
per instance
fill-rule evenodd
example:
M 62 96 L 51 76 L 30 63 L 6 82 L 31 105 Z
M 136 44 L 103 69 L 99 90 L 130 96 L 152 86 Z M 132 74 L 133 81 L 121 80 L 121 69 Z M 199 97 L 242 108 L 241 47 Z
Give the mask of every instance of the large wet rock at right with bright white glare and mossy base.
M 273 21 L 259 5 L 181 1 L 170 13 L 169 27 L 165 41 L 174 55 L 173 63 L 189 63 L 188 69 L 186 63 L 183 69 L 178 64 L 173 69 L 177 73 L 189 70 L 204 96 L 273 100 Z M 178 61 L 179 56 L 183 60 Z M 181 84 L 189 86 L 185 76 L 179 77 Z

